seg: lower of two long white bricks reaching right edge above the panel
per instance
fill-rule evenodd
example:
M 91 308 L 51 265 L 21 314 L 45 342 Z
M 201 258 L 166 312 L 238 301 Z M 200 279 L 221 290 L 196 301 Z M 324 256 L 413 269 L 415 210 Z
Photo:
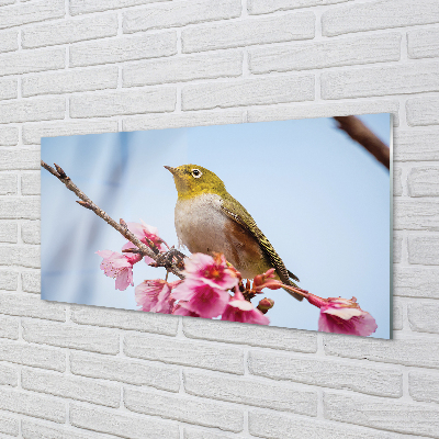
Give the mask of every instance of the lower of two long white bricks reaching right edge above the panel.
M 323 99 L 406 94 L 424 91 L 439 91 L 438 63 L 424 64 L 423 75 L 419 75 L 417 64 L 350 68 L 322 74 Z

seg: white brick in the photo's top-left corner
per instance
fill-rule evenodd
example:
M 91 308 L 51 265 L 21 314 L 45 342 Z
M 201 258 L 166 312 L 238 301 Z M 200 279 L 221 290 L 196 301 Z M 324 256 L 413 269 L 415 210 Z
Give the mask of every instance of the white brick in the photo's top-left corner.
M 36 21 L 60 19 L 65 14 L 64 0 L 36 0 L 0 9 L 0 29 L 21 26 Z

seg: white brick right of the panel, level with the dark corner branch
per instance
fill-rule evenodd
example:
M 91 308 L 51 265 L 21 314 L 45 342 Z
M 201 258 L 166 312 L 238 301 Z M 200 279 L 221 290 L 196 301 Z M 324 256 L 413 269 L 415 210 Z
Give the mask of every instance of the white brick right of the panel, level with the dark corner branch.
M 439 127 L 398 130 L 393 136 L 393 158 L 398 161 L 439 160 L 438 137 Z

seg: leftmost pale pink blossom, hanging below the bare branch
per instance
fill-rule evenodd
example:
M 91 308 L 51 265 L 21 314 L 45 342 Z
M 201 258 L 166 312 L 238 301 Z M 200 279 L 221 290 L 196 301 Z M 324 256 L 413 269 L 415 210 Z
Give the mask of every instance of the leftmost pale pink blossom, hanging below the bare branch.
M 101 262 L 101 270 L 109 278 L 116 280 L 116 290 L 126 290 L 133 282 L 133 266 L 142 260 L 140 255 L 121 255 L 111 250 L 97 251 L 103 258 Z

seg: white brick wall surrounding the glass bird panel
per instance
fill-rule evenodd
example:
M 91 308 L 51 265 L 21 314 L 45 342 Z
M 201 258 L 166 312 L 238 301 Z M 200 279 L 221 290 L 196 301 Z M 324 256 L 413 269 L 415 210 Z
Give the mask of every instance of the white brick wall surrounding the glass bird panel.
M 0 437 L 439 438 L 437 0 L 0 0 Z M 43 302 L 40 138 L 391 112 L 394 340 Z

